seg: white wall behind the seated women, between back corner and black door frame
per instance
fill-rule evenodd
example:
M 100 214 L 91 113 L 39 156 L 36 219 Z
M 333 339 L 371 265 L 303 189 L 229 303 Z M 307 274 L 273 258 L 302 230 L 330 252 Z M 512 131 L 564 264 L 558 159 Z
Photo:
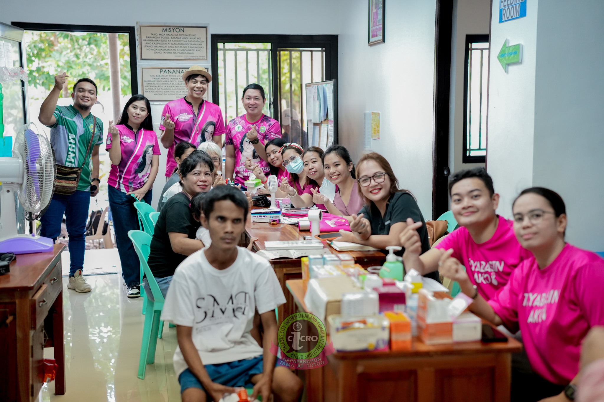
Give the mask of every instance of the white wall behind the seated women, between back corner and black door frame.
M 357 160 L 365 111 L 381 112 L 371 149 L 391 163 L 403 188 L 432 218 L 435 0 L 389 1 L 385 43 L 367 45 L 367 0 L 342 2 L 339 36 L 339 142 Z

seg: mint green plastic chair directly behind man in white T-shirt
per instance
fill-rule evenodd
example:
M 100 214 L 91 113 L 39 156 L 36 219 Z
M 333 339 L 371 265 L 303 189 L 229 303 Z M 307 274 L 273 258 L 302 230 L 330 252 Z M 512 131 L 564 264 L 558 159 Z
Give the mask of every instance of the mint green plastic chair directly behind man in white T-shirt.
M 141 261 L 144 272 L 147 275 L 147 281 L 151 289 L 151 294 L 155 301 L 147 300 L 145 323 L 143 327 L 143 341 L 141 341 L 141 356 L 138 361 L 138 378 L 144 380 L 145 371 L 148 364 L 155 363 L 155 348 L 157 339 L 161 338 L 161 330 L 164 323 L 159 319 L 161 310 L 164 308 L 164 295 L 161 294 L 159 286 L 153 277 L 153 272 L 147 265 L 147 258 L 151 250 L 151 236 L 140 230 L 130 230 L 128 237 L 132 240 L 134 250 L 137 252 L 138 259 Z

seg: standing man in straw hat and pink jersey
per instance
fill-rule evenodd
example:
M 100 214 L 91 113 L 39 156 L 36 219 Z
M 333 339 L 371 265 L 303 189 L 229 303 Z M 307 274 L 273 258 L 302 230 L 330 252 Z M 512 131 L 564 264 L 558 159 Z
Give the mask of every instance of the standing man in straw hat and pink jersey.
M 161 112 L 159 130 L 162 133 L 159 139 L 164 148 L 168 148 L 165 177 L 170 177 L 176 169 L 176 144 L 188 141 L 198 146 L 208 139 L 220 142 L 225 133 L 222 110 L 204 100 L 208 84 L 212 81 L 210 73 L 201 66 L 193 66 L 182 74 L 182 80 L 187 87 L 187 96 L 168 102 Z

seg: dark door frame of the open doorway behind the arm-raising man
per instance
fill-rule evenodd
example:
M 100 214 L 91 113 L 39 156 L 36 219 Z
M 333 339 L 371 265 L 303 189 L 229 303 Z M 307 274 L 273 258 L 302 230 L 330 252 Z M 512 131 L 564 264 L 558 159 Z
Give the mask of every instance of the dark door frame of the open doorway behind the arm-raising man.
M 130 48 L 130 89 L 132 96 L 138 95 L 138 69 L 137 69 L 137 36 L 135 27 L 111 25 L 79 25 L 79 24 L 40 24 L 38 22 L 11 22 L 15 27 L 24 31 L 50 31 L 50 32 L 90 32 L 103 34 L 128 34 Z M 134 53 L 132 53 L 134 52 Z M 25 63 L 25 60 L 24 60 Z

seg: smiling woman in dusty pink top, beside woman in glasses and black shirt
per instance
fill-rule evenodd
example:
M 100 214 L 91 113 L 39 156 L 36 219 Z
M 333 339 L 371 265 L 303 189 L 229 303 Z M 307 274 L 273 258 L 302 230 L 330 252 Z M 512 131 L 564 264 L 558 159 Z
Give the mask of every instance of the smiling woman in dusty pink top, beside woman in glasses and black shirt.
M 321 193 L 315 193 L 312 200 L 316 204 L 324 204 L 327 212 L 344 216 L 352 222 L 352 217 L 359 213 L 365 203 L 359 194 L 355 165 L 348 149 L 341 145 L 327 148 L 323 154 L 323 169 L 325 177 L 336 186 L 333 203 Z

